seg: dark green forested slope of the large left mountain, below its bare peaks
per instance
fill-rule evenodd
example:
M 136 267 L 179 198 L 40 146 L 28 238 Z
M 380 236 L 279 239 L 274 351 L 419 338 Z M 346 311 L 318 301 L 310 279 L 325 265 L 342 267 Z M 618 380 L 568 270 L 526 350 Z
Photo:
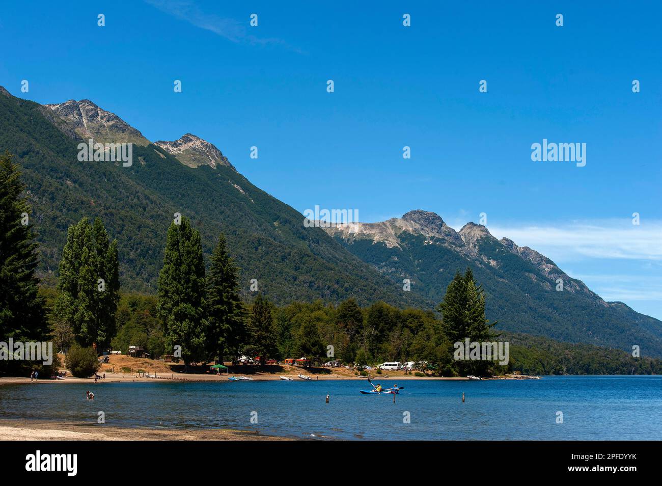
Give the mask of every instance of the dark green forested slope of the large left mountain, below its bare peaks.
M 57 284 L 68 227 L 99 217 L 117 238 L 124 289 L 156 294 L 167 228 L 181 213 L 201 233 L 207 258 L 224 232 L 246 299 L 257 279 L 260 291 L 281 303 L 295 296 L 422 305 L 321 228 L 305 228 L 301 213 L 232 168 L 189 168 L 154 144 L 134 145 L 129 168 L 81 163 L 76 147 L 82 140 L 50 109 L 0 89 L 0 115 L 0 147 L 21 166 L 40 244 L 38 275 L 46 285 Z

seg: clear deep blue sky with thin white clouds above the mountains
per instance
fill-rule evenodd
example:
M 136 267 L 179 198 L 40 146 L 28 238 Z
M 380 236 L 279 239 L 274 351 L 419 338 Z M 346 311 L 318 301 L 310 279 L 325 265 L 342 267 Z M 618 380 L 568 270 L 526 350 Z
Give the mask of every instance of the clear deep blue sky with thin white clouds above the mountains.
M 661 4 L 507 4 L 5 3 L 0 85 L 91 99 L 150 140 L 197 134 L 299 211 L 426 209 L 457 229 L 487 213 L 495 236 L 662 318 Z M 587 165 L 532 162 L 543 138 L 586 143 Z

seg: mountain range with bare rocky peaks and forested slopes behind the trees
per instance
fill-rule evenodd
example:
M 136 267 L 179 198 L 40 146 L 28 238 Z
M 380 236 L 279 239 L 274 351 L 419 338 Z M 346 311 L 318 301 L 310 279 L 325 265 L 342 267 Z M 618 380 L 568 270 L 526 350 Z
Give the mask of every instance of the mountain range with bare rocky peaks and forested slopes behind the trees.
M 77 145 L 132 143 L 134 162 L 79 162 Z M 471 267 L 497 328 L 662 356 L 662 322 L 606 302 L 528 247 L 468 222 L 459 232 L 428 211 L 384 222 L 305 227 L 304 217 L 252 185 L 216 146 L 187 133 L 150 142 L 89 100 L 39 105 L 0 87 L 0 150 L 17 156 L 40 242 L 40 276 L 54 283 L 66 231 L 101 217 L 117 238 L 123 289 L 156 292 L 174 213 L 191 219 L 209 255 L 222 231 L 240 267 L 277 303 L 361 305 L 382 300 L 433 309 L 456 271 Z M 410 291 L 403 281 L 409 279 Z M 557 291 L 557 279 L 563 290 Z

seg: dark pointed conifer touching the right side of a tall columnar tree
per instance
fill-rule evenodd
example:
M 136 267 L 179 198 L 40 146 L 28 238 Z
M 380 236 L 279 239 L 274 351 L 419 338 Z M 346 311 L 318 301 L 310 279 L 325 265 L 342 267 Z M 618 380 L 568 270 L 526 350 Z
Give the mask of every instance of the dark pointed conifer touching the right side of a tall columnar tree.
M 246 309 L 239 297 L 238 278 L 221 233 L 207 273 L 207 344 L 211 356 L 220 362 L 224 354 L 236 356 L 246 344 Z

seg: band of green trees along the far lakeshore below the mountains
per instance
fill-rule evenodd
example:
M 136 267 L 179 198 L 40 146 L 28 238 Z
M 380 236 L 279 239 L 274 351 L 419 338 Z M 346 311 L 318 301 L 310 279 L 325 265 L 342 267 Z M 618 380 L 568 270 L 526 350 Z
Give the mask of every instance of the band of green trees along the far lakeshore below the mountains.
M 416 362 L 434 375 L 523 373 L 650 374 L 662 362 L 620 350 L 565 344 L 526 334 L 499 334 L 485 315 L 487 294 L 473 271 L 455 273 L 435 310 L 399 309 L 382 301 L 359 306 L 321 299 L 277 306 L 257 288 L 240 296 L 239 269 L 224 234 L 205 262 L 201 233 L 175 217 L 166 234 L 158 295 L 120 291 L 117 240 L 101 219 L 71 224 L 59 264 L 57 289 L 38 287 L 35 234 L 19 166 L 0 158 L 0 334 L 15 340 L 53 340 L 96 352 L 145 348 L 153 358 L 174 354 L 192 362 L 305 356 L 310 364 L 340 360 L 358 369 L 379 362 Z M 508 342 L 507 364 L 465 360 L 457 344 Z M 179 356 L 177 355 L 179 352 Z M 21 371 L 3 361 L 0 371 Z M 28 364 L 29 365 L 29 364 Z M 57 365 L 54 364 L 54 365 Z

